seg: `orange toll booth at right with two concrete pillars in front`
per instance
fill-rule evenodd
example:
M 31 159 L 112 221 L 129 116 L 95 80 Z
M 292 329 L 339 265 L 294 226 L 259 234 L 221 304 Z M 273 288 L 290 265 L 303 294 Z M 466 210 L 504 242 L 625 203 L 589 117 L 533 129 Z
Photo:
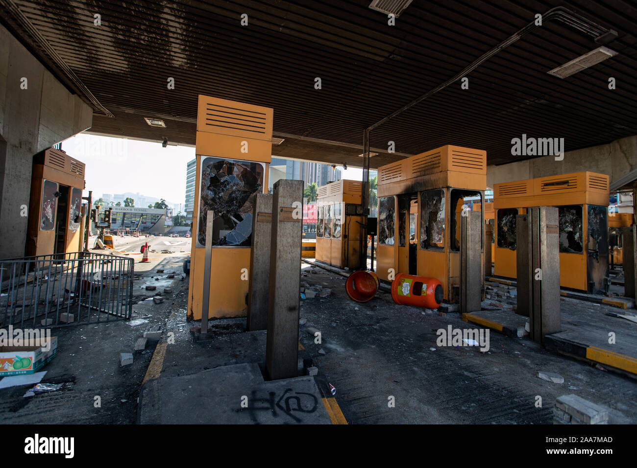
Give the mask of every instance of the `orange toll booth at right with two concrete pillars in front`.
M 608 276 L 608 175 L 562 174 L 494 185 L 494 274 L 517 276 L 516 222 L 533 206 L 559 209 L 560 287 L 604 292 Z

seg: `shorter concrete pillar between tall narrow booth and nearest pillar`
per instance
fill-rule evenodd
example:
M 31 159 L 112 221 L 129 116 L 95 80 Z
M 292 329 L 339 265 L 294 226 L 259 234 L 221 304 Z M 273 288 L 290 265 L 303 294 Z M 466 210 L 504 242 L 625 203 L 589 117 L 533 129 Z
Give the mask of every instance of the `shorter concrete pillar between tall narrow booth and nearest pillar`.
M 252 255 L 250 256 L 250 286 L 248 287 L 248 331 L 265 330 L 268 327 L 270 234 L 272 232 L 272 195 L 257 194 L 253 196 Z

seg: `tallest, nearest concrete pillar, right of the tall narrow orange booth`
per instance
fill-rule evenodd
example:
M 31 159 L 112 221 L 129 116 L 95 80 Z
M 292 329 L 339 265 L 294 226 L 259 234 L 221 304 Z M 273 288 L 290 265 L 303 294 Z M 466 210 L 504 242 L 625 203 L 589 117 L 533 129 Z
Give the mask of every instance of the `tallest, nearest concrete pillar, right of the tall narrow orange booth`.
M 303 181 L 278 180 L 273 187 L 266 375 L 298 375 L 299 294 Z

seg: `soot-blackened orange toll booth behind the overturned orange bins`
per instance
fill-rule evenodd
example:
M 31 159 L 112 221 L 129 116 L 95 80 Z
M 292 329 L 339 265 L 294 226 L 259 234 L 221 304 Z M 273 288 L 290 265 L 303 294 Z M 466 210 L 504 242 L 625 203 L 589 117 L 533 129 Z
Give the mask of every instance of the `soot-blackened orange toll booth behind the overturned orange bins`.
M 379 167 L 378 276 L 435 278 L 447 302 L 459 301 L 462 211 L 482 213 L 486 186 L 487 153 L 461 146 Z

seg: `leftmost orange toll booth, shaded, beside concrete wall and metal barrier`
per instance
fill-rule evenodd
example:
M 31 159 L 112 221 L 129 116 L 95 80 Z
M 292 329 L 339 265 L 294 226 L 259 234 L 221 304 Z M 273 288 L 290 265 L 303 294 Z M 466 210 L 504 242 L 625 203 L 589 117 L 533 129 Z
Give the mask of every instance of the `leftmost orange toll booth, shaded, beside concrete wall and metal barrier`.
M 80 252 L 84 163 L 48 148 L 33 157 L 25 254 Z

